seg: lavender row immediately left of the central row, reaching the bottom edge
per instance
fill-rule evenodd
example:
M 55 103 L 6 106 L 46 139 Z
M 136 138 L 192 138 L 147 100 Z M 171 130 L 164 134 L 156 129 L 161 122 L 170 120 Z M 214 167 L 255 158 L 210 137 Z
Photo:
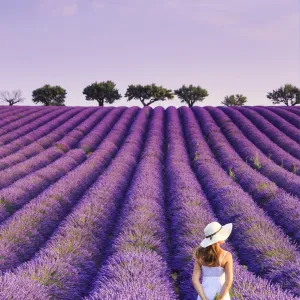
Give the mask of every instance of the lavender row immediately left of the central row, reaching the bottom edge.
M 87 291 L 96 276 L 108 234 L 134 173 L 147 130 L 146 112 L 150 110 L 150 107 L 140 109 L 107 170 L 35 258 L 16 270 L 18 276 L 47 286 L 54 299 L 80 299 Z M 124 129 L 120 131 L 125 134 Z

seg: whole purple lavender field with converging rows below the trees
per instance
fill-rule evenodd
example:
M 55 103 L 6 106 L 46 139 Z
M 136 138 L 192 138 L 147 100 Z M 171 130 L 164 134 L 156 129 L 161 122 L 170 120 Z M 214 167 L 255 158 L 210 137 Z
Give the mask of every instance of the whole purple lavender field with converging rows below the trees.
M 0 106 L 0 300 L 196 300 L 233 223 L 231 299 L 300 299 L 300 108 Z

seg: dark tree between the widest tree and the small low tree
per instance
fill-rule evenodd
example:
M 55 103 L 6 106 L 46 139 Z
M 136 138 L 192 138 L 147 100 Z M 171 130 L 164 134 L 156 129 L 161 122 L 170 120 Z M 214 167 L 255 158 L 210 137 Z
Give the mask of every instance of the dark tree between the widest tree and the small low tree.
M 181 99 L 181 102 L 186 102 L 189 107 L 192 107 L 196 101 L 203 101 L 208 96 L 207 90 L 200 86 L 183 85 L 180 89 L 175 90 L 174 94 Z

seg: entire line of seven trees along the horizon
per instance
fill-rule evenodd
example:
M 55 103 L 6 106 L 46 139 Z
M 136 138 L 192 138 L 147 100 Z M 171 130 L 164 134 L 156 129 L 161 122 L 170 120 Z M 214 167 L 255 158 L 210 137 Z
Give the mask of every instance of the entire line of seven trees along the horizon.
M 94 82 L 85 87 L 82 93 L 87 101 L 97 101 L 99 106 L 104 106 L 105 103 L 113 104 L 122 98 L 116 84 L 111 80 Z M 1 92 L 0 101 L 14 105 L 24 101 L 25 98 L 21 94 L 20 90 L 14 90 L 12 93 Z M 66 95 L 67 92 L 64 88 L 46 84 L 32 92 L 32 101 L 35 104 L 45 106 L 65 106 Z M 192 107 L 196 102 L 202 102 L 209 96 L 207 90 L 200 86 L 183 85 L 172 92 L 172 90 L 157 86 L 154 83 L 151 85 L 129 85 L 124 96 L 127 97 L 127 101 L 139 100 L 143 106 L 149 106 L 154 102 L 173 99 L 174 95 L 181 100 L 181 103 L 185 103 L 189 107 Z M 295 106 L 300 104 L 300 89 L 292 84 L 285 84 L 277 90 L 269 92 L 267 98 L 271 99 L 273 104 Z M 247 97 L 242 94 L 233 94 L 225 96 L 221 103 L 225 106 L 243 106 L 246 102 Z

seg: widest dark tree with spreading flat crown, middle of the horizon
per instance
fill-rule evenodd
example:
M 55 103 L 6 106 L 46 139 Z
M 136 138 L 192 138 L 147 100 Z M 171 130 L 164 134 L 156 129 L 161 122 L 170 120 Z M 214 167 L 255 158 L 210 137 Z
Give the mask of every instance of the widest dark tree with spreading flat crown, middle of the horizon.
M 129 85 L 125 94 L 128 97 L 127 101 L 137 99 L 142 102 L 144 106 L 149 106 L 156 101 L 165 101 L 173 99 L 174 95 L 171 90 L 165 89 L 162 86 L 157 86 L 155 83 L 151 85 Z M 146 103 L 146 101 L 148 101 Z

